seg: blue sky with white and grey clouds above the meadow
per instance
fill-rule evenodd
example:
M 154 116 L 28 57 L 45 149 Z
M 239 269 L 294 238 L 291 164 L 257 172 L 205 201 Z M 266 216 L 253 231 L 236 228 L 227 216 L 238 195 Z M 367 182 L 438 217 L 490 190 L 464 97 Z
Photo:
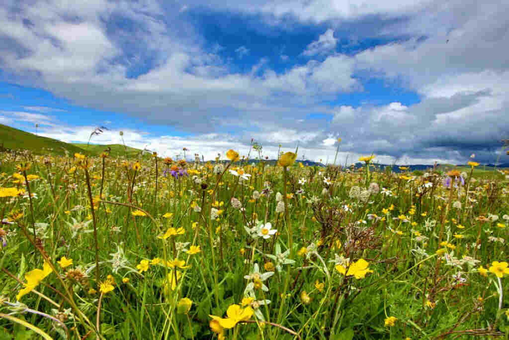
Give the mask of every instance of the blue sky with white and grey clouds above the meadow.
M 506 163 L 506 0 L 4 0 L 0 123 L 206 160 Z M 341 138 L 341 143 L 337 139 Z M 339 148 L 338 148 L 339 147 Z M 251 153 L 252 155 L 252 153 Z

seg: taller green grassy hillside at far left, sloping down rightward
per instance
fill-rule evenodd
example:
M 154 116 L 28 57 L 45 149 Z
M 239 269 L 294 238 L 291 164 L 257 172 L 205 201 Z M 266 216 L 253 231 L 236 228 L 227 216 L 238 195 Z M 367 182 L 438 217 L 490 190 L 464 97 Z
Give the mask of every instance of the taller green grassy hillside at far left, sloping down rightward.
M 0 124 L 0 146 L 11 150 L 27 149 L 37 154 L 56 153 L 65 154 L 65 150 L 87 153 L 82 148 L 56 139 L 36 136 L 17 128 Z

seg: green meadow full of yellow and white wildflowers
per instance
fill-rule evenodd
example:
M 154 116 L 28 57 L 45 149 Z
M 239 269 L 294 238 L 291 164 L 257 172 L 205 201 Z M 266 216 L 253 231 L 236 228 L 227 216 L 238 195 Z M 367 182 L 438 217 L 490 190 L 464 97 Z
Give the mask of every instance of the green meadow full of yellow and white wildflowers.
M 3 154 L 0 340 L 508 336 L 509 171 L 224 153 Z

